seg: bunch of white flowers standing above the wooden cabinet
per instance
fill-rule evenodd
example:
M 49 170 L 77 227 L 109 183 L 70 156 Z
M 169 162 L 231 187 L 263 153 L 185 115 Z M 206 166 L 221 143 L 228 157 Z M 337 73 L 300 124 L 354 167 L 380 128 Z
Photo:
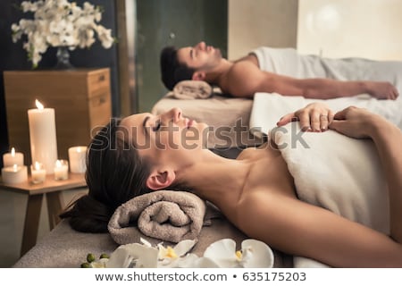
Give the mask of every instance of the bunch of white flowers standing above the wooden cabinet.
M 99 6 L 85 2 L 81 8 L 68 0 L 39 0 L 23 1 L 21 9 L 23 13 L 33 13 L 34 19 L 12 24 L 13 42 L 26 35 L 23 48 L 34 68 L 49 46 L 66 46 L 70 50 L 90 47 L 95 36 L 105 48 L 113 45 L 112 30 L 97 24 L 102 19 Z

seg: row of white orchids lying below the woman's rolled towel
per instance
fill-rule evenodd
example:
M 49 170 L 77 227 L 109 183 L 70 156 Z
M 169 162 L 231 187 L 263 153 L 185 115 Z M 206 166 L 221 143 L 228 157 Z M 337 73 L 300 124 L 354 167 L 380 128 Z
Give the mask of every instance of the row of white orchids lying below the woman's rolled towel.
M 263 241 L 243 240 L 241 250 L 236 251 L 236 242 L 218 240 L 205 249 L 203 257 L 189 253 L 196 240 L 182 240 L 172 247 L 160 243 L 152 246 L 147 240 L 141 243 L 121 245 L 107 257 L 96 260 L 88 254 L 83 268 L 271 268 L 273 252 Z

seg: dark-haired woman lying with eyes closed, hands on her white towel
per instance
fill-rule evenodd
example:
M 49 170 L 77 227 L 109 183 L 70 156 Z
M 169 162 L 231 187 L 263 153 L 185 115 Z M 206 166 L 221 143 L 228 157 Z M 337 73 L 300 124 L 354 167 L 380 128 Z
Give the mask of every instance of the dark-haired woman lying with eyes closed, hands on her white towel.
M 288 166 L 271 141 L 247 148 L 236 160 L 216 156 L 203 147 L 206 125 L 176 108 L 159 116 L 134 114 L 99 132 L 88 151 L 88 195 L 62 217 L 71 217 L 78 231 L 107 231 L 116 207 L 130 198 L 186 188 L 272 248 L 336 267 L 401 267 L 401 131 L 365 110 L 349 107 L 333 114 L 320 104 L 285 115 L 278 125 L 294 117 L 305 130 L 329 128 L 373 139 L 388 183 L 389 236 L 299 200 Z

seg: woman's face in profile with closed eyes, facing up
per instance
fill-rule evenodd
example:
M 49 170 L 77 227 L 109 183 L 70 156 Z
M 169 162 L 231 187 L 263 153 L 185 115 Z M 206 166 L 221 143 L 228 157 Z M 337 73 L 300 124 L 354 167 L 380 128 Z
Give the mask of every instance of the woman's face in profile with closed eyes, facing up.
M 160 115 L 130 115 L 121 121 L 119 131 L 137 148 L 139 156 L 157 162 L 205 147 L 206 127 L 205 123 L 183 117 L 179 108 L 173 108 Z

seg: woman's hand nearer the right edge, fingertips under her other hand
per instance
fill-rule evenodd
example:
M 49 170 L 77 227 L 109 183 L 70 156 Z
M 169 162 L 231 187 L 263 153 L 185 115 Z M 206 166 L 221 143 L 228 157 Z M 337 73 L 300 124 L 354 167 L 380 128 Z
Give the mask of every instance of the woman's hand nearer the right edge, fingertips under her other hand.
M 381 124 L 386 124 L 386 121 L 380 115 L 370 113 L 364 108 L 350 106 L 334 115 L 329 128 L 348 137 L 363 139 L 372 137 L 375 127 Z

